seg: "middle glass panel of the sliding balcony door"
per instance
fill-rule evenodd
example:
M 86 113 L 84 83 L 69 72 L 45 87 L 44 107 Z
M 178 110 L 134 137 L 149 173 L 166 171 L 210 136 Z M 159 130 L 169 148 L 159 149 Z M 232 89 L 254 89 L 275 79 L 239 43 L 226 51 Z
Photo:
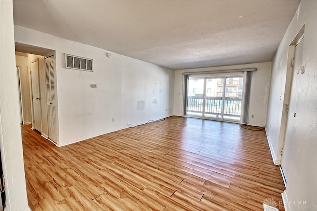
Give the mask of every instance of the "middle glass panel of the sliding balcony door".
M 224 78 L 206 79 L 205 117 L 222 119 Z

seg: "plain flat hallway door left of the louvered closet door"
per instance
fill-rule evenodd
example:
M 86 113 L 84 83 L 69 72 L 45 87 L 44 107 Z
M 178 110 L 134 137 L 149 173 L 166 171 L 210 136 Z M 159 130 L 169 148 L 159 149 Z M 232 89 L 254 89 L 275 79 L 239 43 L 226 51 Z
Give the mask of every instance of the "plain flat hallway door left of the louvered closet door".
M 41 102 L 39 87 L 39 61 L 34 60 L 30 64 L 31 69 L 31 88 L 33 105 L 33 123 L 32 128 L 41 132 Z

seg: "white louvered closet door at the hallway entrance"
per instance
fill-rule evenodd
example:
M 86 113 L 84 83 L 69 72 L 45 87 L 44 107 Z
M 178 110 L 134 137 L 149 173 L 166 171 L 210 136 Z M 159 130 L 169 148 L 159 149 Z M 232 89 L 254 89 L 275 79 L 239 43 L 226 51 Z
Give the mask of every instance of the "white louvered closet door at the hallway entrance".
M 56 119 L 56 80 L 54 75 L 54 57 L 45 59 L 45 81 L 46 81 L 46 101 L 48 108 L 49 139 L 57 142 L 57 119 Z

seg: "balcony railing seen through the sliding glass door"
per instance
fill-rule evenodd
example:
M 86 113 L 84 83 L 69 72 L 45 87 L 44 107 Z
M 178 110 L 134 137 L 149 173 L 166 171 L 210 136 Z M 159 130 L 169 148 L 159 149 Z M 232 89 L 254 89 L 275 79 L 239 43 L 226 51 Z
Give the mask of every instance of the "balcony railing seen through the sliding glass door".
M 222 97 L 206 97 L 205 114 L 221 114 Z M 203 112 L 203 97 L 188 96 L 187 102 L 188 112 Z M 226 97 L 224 100 L 224 111 L 226 116 L 239 117 L 241 115 L 241 99 L 237 97 Z

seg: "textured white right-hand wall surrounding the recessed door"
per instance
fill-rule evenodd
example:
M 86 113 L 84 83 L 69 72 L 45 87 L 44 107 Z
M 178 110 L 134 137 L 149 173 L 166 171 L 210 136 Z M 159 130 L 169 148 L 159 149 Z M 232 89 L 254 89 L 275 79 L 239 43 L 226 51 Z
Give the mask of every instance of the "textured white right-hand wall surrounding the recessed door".
M 288 210 L 317 210 L 317 1 L 302 1 L 291 21 L 272 63 L 267 136 L 272 154 L 283 147 L 280 139 L 281 118 L 285 92 L 288 46 L 305 24 L 303 65 L 300 76 L 293 142 L 289 148 L 291 160 L 283 197 Z M 295 87 L 295 86 L 294 86 Z M 306 205 L 299 206 L 299 202 Z

